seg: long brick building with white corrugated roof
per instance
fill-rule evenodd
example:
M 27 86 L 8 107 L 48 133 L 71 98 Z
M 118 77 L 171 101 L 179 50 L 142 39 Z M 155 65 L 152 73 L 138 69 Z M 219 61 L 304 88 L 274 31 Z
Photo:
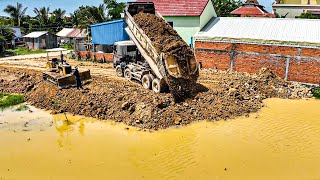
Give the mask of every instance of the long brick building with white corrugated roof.
M 221 17 L 195 37 L 204 68 L 255 73 L 269 68 L 279 77 L 320 84 L 320 21 Z

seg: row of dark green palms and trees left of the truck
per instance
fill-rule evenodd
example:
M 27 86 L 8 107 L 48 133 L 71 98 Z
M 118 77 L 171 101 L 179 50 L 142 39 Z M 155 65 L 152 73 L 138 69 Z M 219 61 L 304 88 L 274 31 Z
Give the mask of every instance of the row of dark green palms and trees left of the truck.
M 26 15 L 28 7 L 17 2 L 6 6 L 3 11 L 9 18 L 0 18 L 0 25 L 19 26 L 25 33 L 32 31 L 50 31 L 56 33 L 64 27 L 87 28 L 91 24 L 117 20 L 121 18 L 125 3 L 116 0 L 104 0 L 99 6 L 81 6 L 67 14 L 58 8 L 34 8 L 35 16 Z

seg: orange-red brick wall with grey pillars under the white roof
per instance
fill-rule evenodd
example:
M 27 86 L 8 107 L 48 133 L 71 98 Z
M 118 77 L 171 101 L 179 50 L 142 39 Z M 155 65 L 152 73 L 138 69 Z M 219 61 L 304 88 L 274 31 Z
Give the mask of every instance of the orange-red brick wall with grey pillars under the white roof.
M 289 81 L 320 84 L 320 48 L 196 41 L 195 53 L 204 68 L 255 73 L 267 67 Z

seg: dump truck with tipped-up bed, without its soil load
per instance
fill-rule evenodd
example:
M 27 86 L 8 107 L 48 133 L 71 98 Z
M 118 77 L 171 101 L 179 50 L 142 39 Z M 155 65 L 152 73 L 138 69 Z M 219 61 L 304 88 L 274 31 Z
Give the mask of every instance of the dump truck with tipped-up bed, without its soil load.
M 132 41 L 114 44 L 113 62 L 116 74 L 128 80 L 137 80 L 143 87 L 156 93 L 165 92 L 169 86 L 171 90 L 174 87 L 184 91 L 184 87 L 190 81 L 196 81 L 199 75 L 195 58 L 178 63 L 174 56 L 157 52 L 150 38 L 135 23 L 133 16 L 140 12 L 162 18 L 155 11 L 152 2 L 128 3 L 124 12 L 124 21 L 128 25 L 125 31 Z

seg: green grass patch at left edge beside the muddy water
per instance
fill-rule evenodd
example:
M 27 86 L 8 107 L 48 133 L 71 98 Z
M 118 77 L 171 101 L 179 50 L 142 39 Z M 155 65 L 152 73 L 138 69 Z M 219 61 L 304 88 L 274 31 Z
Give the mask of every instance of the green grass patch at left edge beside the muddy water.
M 23 95 L 0 93 L 0 110 L 23 103 L 24 101 L 25 99 Z

